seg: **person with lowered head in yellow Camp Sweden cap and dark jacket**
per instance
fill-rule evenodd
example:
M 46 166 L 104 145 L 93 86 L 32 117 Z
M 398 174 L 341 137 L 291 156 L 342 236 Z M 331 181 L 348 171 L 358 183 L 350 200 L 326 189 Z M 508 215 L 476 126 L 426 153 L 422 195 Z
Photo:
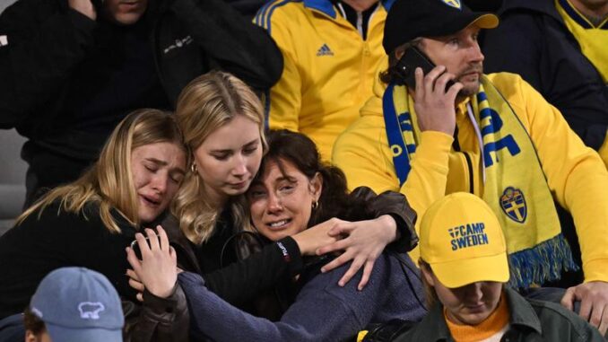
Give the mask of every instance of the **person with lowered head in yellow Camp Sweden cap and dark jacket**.
M 460 192 L 430 206 L 420 251 L 430 311 L 396 341 L 604 341 L 559 304 L 526 300 L 505 286 L 507 244 L 480 197 Z

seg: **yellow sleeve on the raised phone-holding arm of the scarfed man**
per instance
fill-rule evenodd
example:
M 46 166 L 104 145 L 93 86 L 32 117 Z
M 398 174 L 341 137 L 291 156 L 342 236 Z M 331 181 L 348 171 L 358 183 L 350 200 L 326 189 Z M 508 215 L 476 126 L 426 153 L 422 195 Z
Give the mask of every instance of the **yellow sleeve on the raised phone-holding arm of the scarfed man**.
M 418 213 L 418 232 L 421 213 L 445 196 L 449 152 L 454 138 L 440 132 L 423 132 L 411 162 L 412 170 L 400 186 L 388 148 L 382 101 L 378 96 L 366 103 L 361 116 L 336 141 L 333 162 L 346 174 L 349 189 L 367 186 L 376 193 L 392 190 L 404 194 Z M 418 249 L 410 252 L 413 260 L 418 256 Z

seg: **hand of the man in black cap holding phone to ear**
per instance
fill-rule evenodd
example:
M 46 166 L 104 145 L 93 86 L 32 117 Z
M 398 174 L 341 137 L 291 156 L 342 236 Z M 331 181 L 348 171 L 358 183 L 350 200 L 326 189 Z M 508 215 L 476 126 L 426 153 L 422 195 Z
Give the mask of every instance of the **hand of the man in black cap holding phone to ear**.
M 462 83 L 454 83 L 446 91 L 447 83 L 454 78 L 455 75 L 446 72 L 446 66 L 435 66 L 427 75 L 416 67 L 413 108 L 422 132 L 430 130 L 454 135 L 456 96 L 463 88 Z

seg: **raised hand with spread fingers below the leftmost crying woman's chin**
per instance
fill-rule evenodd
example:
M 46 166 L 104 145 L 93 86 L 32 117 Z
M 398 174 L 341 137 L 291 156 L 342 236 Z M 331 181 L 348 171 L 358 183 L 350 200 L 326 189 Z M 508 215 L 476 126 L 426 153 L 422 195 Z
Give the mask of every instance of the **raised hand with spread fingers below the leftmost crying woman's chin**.
M 129 285 L 136 290 L 142 292 L 144 286 L 151 294 L 167 298 L 173 293 L 178 280 L 178 258 L 169 245 L 167 233 L 160 225 L 156 229 L 158 235 L 149 228 L 145 229 L 147 237 L 141 232 L 135 234 L 135 241 L 142 253 L 141 260 L 135 255 L 134 248 L 126 248 L 126 259 L 133 267 L 132 271 L 127 271 L 127 276 L 131 278 Z

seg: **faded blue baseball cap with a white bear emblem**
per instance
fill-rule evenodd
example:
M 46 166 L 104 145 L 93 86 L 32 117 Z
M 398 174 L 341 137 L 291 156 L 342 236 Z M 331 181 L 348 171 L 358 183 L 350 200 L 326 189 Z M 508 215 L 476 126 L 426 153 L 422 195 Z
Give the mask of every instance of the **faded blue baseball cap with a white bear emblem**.
M 120 298 L 99 272 L 58 268 L 31 297 L 30 311 L 44 321 L 53 341 L 121 341 L 125 325 Z

